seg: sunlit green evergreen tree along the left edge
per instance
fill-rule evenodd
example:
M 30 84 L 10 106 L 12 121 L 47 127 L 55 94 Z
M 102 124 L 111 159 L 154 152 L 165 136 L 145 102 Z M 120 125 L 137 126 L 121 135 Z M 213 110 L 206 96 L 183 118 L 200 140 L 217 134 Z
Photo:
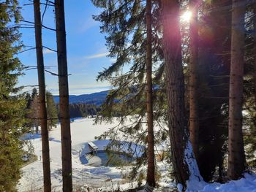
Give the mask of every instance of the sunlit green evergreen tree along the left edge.
M 22 65 L 16 57 L 21 48 L 18 1 L 0 2 L 0 191 L 16 191 L 22 164 L 26 101 L 16 88 Z

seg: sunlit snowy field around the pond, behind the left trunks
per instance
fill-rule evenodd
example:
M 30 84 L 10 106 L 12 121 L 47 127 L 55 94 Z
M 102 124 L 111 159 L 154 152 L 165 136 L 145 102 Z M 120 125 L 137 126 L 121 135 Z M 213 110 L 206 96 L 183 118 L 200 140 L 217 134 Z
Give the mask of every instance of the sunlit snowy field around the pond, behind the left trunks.
M 81 164 L 79 155 L 86 142 L 94 141 L 113 124 L 94 125 L 94 119 L 83 118 L 71 123 L 72 135 L 72 174 L 74 185 L 87 184 L 94 188 L 112 186 L 112 183 L 125 183 L 121 179 L 121 170 L 115 167 L 106 166 L 85 166 Z M 55 191 L 61 191 L 61 129 L 60 125 L 49 132 L 50 140 L 50 169 L 52 186 Z M 40 135 L 26 135 L 23 139 L 30 139 L 34 146 L 34 153 L 38 160 L 23 167 L 23 175 L 18 184 L 18 191 L 42 191 L 42 142 Z M 41 189 L 41 190 L 40 190 Z

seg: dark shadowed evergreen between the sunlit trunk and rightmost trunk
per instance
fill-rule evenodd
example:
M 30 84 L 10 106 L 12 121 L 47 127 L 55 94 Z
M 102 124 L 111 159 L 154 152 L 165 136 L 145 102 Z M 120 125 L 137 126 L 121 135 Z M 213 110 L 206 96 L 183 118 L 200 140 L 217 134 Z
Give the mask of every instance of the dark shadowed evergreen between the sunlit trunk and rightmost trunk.
M 225 174 L 231 3 L 230 0 L 204 1 L 199 7 L 202 15 L 198 18 L 197 88 L 200 150 L 197 164 L 200 174 L 207 181 L 213 180 L 217 171 L 220 181 Z

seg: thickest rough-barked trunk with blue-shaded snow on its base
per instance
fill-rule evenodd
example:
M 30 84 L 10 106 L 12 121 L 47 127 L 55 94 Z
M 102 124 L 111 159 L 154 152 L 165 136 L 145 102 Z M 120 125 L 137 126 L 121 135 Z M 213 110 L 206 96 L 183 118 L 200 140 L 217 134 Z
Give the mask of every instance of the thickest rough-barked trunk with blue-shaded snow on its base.
M 197 188 L 187 181 L 203 180 L 189 141 L 185 123 L 184 74 L 181 62 L 181 34 L 178 1 L 162 0 L 162 27 L 167 78 L 167 118 L 176 182 L 189 190 Z M 193 178 L 192 178 L 193 177 Z

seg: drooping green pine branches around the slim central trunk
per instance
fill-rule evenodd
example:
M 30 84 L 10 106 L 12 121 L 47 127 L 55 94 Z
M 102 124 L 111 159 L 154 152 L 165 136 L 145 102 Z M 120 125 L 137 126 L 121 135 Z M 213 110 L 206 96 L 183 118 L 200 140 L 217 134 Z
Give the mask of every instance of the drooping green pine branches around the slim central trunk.
M 146 84 L 146 46 L 147 46 L 147 31 L 146 28 L 146 1 L 122 1 L 120 4 L 116 4 L 115 1 L 99 1 L 93 0 L 93 3 L 97 7 L 101 7 L 104 11 L 97 16 L 94 16 L 95 20 L 98 20 L 102 23 L 101 31 L 102 33 L 108 34 L 106 37 L 106 42 L 108 50 L 110 51 L 110 57 L 116 57 L 116 62 L 114 62 L 108 69 L 105 69 L 103 72 L 99 73 L 97 77 L 98 80 L 108 80 L 110 83 L 116 87 L 116 90 L 110 91 L 108 97 L 105 101 L 105 104 L 102 106 L 102 112 L 99 120 L 109 120 L 111 121 L 116 115 L 118 115 L 118 120 L 120 123 L 124 123 L 127 119 L 132 119 L 132 124 L 129 126 L 123 126 L 116 128 L 116 131 L 120 131 L 129 137 L 135 139 L 140 145 L 147 145 L 152 147 L 152 142 L 147 142 L 148 139 L 152 136 L 146 136 L 145 130 L 143 129 L 143 122 L 146 118 L 147 112 L 147 101 L 146 101 L 146 91 L 152 89 L 152 99 L 154 101 L 159 101 L 157 104 L 162 105 L 161 99 L 157 99 L 158 96 L 162 96 L 157 93 L 161 86 L 157 88 L 147 88 Z M 159 22 L 157 15 L 159 14 L 159 2 L 151 1 L 153 4 L 153 9 L 151 10 L 151 28 L 152 31 L 159 30 Z M 151 34 L 151 65 L 153 69 L 157 69 L 151 74 L 155 74 L 155 77 L 152 82 L 157 82 L 162 78 L 163 65 L 161 60 L 161 48 L 160 41 L 161 38 L 158 37 L 157 32 L 150 32 Z M 124 66 L 129 66 L 129 70 L 125 70 Z M 159 67 L 161 66 L 161 67 Z M 150 66 L 149 66 L 150 68 Z M 149 74 L 148 74 L 149 77 Z M 153 84 L 153 83 L 152 83 Z M 154 105 L 157 106 L 156 103 Z M 158 107 L 157 115 L 154 115 L 154 119 L 159 120 L 160 114 L 162 114 L 163 107 Z M 152 109 L 154 106 L 152 105 Z M 132 116 L 131 116 L 132 115 Z M 161 117 L 162 118 L 162 117 Z M 153 126 L 153 122 L 151 123 Z M 106 132 L 100 137 L 103 139 L 105 137 L 117 138 L 113 129 Z M 159 131 L 154 133 L 154 137 L 162 137 L 164 131 Z M 152 133 L 151 133 L 152 134 Z M 161 135 L 161 136 L 160 136 Z M 152 140 L 152 139 L 150 139 Z M 150 148 L 151 148 L 150 147 Z M 154 150 L 154 149 L 153 149 Z M 151 150 L 151 154 L 152 153 Z M 149 153 L 148 153 L 149 154 Z M 148 155 L 149 158 L 152 158 L 152 155 Z M 141 164 L 146 164 L 146 158 L 140 159 L 137 161 L 137 165 L 134 166 L 131 174 L 134 176 L 138 172 L 138 166 Z M 154 166 L 151 160 L 151 166 Z M 149 172 L 152 172 L 151 170 Z M 153 171 L 154 172 L 154 171 Z M 151 174 L 152 175 L 152 174 Z M 149 177 L 149 174 L 148 174 Z M 153 179 L 154 180 L 154 179 Z M 148 182 L 149 183 L 149 182 Z M 153 182 L 154 183 L 154 182 Z

